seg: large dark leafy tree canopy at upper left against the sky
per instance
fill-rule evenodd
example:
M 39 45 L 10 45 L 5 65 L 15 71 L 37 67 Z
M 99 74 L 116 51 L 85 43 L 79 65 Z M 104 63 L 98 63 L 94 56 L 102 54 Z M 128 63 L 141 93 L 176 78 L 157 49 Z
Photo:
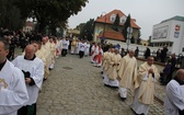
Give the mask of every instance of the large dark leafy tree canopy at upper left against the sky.
M 56 32 L 60 23 L 65 26 L 68 18 L 81 11 L 87 2 L 88 0 L 14 0 L 22 18 L 36 19 L 39 32 L 46 26 Z

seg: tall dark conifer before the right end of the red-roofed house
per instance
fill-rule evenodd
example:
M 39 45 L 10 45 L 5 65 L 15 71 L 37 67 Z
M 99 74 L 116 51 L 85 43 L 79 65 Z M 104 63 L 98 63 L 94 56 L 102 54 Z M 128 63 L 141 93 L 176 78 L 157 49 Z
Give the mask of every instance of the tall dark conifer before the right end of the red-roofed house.
M 127 27 L 130 26 L 130 14 L 128 14 L 125 24 L 123 25 L 123 35 L 125 37 L 125 39 L 127 39 Z

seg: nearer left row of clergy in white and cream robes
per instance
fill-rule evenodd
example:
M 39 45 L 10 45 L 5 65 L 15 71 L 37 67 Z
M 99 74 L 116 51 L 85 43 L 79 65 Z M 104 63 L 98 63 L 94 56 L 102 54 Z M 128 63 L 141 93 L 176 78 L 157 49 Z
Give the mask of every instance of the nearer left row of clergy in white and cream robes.
M 0 115 L 36 115 L 38 92 L 57 55 L 57 44 L 53 39 L 45 36 L 42 42 L 27 44 L 22 55 L 12 61 L 8 59 L 7 37 L 0 39 Z

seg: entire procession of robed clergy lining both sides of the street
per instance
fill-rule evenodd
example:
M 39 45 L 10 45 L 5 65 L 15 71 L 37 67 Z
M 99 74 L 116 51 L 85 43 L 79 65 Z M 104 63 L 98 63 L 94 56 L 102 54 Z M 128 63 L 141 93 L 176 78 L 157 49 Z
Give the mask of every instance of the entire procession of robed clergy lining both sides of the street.
M 135 58 L 137 53 L 135 55 L 133 49 L 125 53 L 112 44 L 90 44 L 77 38 L 69 41 L 68 37 L 41 36 L 41 39 L 27 42 L 22 55 L 14 58 L 14 50 L 11 51 L 10 48 L 11 38 L 11 34 L 0 38 L 0 115 L 36 115 L 36 102 L 43 81 L 49 78 L 55 59 L 66 57 L 68 49 L 71 55 L 79 55 L 79 58 L 91 55 L 91 62 L 101 67 L 104 85 L 118 89 L 123 101 L 126 101 L 129 90 L 133 89 L 130 107 L 136 114 L 147 115 L 153 104 L 154 83 L 160 73 L 153 65 L 152 56 L 148 56 L 147 61 L 138 67 Z M 10 53 L 12 61 L 9 60 Z M 165 115 L 183 115 L 183 84 L 184 70 L 180 69 L 166 85 Z

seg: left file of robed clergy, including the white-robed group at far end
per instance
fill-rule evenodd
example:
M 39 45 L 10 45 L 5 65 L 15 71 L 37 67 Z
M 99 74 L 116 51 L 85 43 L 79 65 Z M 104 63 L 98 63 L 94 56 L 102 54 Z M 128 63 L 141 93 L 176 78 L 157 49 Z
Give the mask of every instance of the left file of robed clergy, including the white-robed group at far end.
M 24 43 L 22 55 L 14 57 L 14 48 L 19 47 L 18 44 L 12 43 L 14 36 L 10 32 L 5 34 L 5 31 L 1 34 L 3 37 L 0 38 L 0 101 L 2 102 L 0 115 L 36 115 L 38 92 L 42 91 L 43 81 L 49 78 L 49 72 L 55 67 L 55 59 L 66 57 L 69 47 L 70 54 L 79 55 L 79 58 L 90 54 L 90 44 L 87 41 L 73 38 L 70 42 L 68 37 L 43 36 L 41 39 Z M 11 44 L 14 45 L 13 50 Z

